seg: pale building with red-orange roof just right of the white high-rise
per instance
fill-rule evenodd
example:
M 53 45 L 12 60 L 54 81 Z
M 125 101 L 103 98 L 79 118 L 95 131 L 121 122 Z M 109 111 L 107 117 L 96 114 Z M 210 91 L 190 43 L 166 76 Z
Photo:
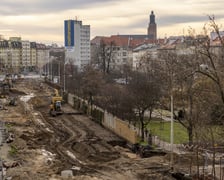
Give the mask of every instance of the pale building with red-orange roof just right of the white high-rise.
M 154 40 L 139 36 L 112 35 L 95 37 L 91 41 L 91 62 L 102 66 L 109 62 L 110 70 L 123 71 L 125 66 L 133 67 L 133 49 L 142 44 L 154 44 Z M 159 41 L 158 41 L 159 42 Z

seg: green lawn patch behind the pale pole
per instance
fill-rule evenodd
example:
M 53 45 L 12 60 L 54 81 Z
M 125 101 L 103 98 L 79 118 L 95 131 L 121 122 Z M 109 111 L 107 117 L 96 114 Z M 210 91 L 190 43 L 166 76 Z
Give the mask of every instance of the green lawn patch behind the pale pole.
M 170 122 L 152 120 L 148 124 L 148 129 L 154 136 L 158 136 L 161 140 L 170 142 Z M 174 144 L 188 142 L 187 130 L 178 122 L 174 122 Z

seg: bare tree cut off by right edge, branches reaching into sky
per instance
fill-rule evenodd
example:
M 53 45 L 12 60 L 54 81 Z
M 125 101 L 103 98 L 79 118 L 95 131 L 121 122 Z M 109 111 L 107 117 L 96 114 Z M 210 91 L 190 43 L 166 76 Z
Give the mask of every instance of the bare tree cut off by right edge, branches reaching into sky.
M 198 73 L 210 81 L 213 90 L 213 99 L 216 101 L 211 109 L 211 116 L 214 123 L 224 121 L 224 38 L 220 27 L 215 22 L 214 16 L 208 16 L 209 23 L 204 26 L 205 35 L 210 30 L 213 33 L 211 39 L 205 42 L 198 42 L 196 46 L 198 58 Z M 219 98 L 218 98 L 219 97 Z

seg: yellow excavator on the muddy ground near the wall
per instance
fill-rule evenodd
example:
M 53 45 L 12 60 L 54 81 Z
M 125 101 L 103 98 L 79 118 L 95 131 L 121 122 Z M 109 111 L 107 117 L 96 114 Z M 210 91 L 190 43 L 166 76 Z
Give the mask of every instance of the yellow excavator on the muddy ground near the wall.
M 58 90 L 54 89 L 54 94 L 51 97 L 50 115 L 57 116 L 63 114 L 61 109 L 62 97 L 59 95 Z

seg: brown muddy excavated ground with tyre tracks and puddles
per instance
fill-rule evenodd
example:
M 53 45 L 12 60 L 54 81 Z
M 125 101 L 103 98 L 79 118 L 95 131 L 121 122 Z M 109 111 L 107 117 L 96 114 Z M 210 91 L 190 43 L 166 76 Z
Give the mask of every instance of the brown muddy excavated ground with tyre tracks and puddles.
M 16 162 L 7 169 L 12 179 L 173 179 L 166 158 L 139 158 L 120 147 L 123 139 L 85 115 L 49 116 L 52 88 L 38 79 L 17 81 L 17 106 L 1 110 L 1 120 L 14 134 L 4 160 Z M 28 95 L 25 96 L 24 94 Z M 68 104 L 66 112 L 75 112 Z M 0 151 L 3 151 L 1 148 Z M 7 148 L 6 148 L 7 150 Z

